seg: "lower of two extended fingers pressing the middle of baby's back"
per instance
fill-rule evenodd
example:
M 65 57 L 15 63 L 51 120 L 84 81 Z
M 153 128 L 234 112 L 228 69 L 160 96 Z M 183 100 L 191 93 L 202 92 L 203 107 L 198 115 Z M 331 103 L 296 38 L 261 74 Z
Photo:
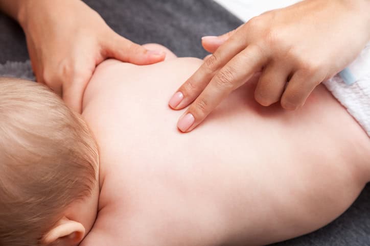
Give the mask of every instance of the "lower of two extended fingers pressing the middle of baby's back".
M 268 57 L 257 45 L 249 45 L 221 68 L 203 92 L 180 117 L 177 127 L 190 132 L 233 90 L 248 81 L 266 63 Z

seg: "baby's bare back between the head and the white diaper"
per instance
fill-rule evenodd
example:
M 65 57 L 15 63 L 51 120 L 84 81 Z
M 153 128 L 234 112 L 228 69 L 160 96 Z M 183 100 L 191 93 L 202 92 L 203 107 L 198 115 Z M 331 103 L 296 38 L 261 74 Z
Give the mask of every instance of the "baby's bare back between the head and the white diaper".
M 167 102 L 200 64 L 98 67 L 83 115 L 102 190 L 83 245 L 266 244 L 326 225 L 359 194 L 369 140 L 321 86 L 289 112 L 259 106 L 250 81 L 181 134 Z

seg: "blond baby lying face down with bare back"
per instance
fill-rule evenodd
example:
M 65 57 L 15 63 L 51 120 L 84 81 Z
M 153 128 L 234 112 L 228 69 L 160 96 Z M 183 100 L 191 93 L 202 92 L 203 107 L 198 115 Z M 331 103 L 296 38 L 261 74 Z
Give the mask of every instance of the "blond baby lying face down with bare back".
M 0 245 L 268 244 L 328 224 L 370 180 L 370 140 L 323 86 L 290 112 L 251 80 L 179 133 L 168 96 L 201 60 L 167 53 L 97 68 L 91 133 L 43 86 L 3 79 Z

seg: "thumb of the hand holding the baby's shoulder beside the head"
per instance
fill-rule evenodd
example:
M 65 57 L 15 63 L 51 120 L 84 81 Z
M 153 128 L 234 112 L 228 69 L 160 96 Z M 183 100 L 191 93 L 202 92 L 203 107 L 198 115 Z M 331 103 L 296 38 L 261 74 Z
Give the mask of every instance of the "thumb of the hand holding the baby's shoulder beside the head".
M 105 38 L 104 42 L 106 58 L 115 58 L 136 65 L 153 64 L 166 58 L 166 53 L 163 51 L 149 51 L 142 45 L 131 42 L 114 32 L 112 37 Z

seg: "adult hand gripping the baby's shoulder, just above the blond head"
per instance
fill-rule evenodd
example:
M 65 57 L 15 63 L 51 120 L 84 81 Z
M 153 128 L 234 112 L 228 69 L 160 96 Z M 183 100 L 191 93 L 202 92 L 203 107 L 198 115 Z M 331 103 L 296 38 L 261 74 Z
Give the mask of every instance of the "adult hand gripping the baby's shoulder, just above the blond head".
M 148 51 L 115 33 L 79 0 L 20 1 L 18 19 L 37 81 L 53 88 L 77 112 L 95 67 L 106 58 L 138 65 L 165 59 L 165 53 Z

